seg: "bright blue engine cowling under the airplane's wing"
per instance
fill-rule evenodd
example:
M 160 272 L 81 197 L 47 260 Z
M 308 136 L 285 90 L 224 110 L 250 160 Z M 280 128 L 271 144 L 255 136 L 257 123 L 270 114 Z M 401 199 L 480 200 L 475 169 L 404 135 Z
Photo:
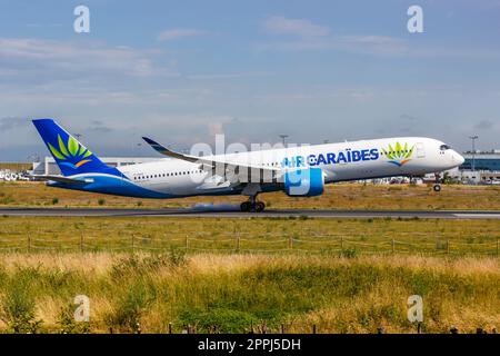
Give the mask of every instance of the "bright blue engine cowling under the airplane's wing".
M 324 177 L 320 168 L 298 169 L 284 174 L 284 192 L 291 197 L 314 197 L 323 194 Z

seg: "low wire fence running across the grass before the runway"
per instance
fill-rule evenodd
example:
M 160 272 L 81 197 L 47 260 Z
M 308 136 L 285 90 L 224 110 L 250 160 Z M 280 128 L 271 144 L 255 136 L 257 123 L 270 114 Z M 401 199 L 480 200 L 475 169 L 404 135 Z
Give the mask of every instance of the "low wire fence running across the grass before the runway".
M 209 236 L 204 233 L 186 235 L 183 238 L 168 236 L 150 237 L 140 235 L 114 236 L 109 238 L 79 237 L 32 237 L 14 236 L 0 238 L 0 253 L 37 251 L 151 251 L 166 253 L 182 249 L 187 253 L 307 253 L 307 254 L 430 254 L 430 255 L 491 255 L 499 256 L 500 238 L 476 240 L 402 240 L 379 238 L 367 241 L 362 237 L 343 238 L 337 235 L 313 237 L 272 236 L 251 237 L 250 234 Z

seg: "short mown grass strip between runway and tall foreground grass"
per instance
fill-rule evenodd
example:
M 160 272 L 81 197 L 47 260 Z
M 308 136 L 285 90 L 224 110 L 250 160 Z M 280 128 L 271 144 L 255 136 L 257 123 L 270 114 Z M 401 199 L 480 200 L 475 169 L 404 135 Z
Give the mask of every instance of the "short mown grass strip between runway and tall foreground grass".
M 0 217 L 0 251 L 498 255 L 499 220 Z

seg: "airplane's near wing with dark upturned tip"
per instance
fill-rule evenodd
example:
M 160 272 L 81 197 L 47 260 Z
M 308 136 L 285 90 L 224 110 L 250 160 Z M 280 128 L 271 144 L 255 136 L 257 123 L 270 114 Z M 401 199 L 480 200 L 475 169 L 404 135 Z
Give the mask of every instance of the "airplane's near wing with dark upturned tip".
M 253 178 L 258 177 L 267 177 L 271 178 L 271 180 L 274 180 L 277 177 L 281 176 L 282 169 L 279 167 L 262 167 L 262 166 L 256 166 L 256 165 L 244 165 L 244 164 L 238 164 L 238 162 L 231 162 L 231 161 L 224 161 L 219 159 L 210 159 L 210 158 L 203 158 L 203 157 L 197 157 L 197 156 L 190 156 L 184 154 L 179 154 L 176 151 L 172 151 L 168 149 L 167 147 L 158 144 L 157 141 L 148 138 L 142 137 L 142 139 L 148 142 L 157 152 L 171 157 L 177 158 L 181 160 L 186 160 L 193 164 L 200 164 L 200 168 L 204 170 L 217 170 L 218 165 L 223 165 L 226 174 L 231 176 L 232 180 L 239 180 L 241 176 L 244 175 L 244 177 L 248 177 L 250 179 L 250 176 Z M 208 168 L 208 169 L 207 169 Z

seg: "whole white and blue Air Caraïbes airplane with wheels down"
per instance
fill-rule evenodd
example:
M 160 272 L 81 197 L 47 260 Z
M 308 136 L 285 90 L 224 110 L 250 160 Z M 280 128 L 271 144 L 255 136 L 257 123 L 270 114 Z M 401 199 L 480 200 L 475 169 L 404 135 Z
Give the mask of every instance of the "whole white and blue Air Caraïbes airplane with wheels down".
M 167 158 L 110 167 L 53 119 L 33 119 L 61 175 L 37 175 L 50 187 L 137 198 L 242 195 L 242 211 L 262 211 L 261 192 L 291 197 L 323 194 L 324 185 L 396 176 L 419 177 L 463 164 L 449 145 L 426 137 L 393 137 L 282 147 L 227 155 L 191 156 L 143 137 Z M 439 177 L 439 176 L 438 176 Z M 433 189 L 440 191 L 436 184 Z

